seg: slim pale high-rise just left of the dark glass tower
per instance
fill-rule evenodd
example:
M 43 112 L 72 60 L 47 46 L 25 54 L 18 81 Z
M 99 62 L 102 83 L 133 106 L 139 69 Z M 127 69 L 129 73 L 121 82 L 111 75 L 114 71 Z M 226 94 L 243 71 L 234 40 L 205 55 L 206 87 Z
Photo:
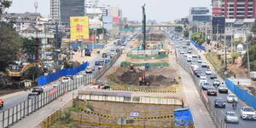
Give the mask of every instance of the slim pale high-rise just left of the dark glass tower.
M 50 18 L 55 22 L 60 20 L 60 0 L 50 0 L 49 1 L 49 14 Z

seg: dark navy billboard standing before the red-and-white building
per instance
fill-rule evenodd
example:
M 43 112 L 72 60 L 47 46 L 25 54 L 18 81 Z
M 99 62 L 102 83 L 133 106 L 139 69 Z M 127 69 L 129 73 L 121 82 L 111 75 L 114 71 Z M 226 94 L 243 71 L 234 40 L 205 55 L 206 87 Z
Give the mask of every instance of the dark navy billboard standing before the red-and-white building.
M 212 17 L 212 33 L 224 33 L 225 32 L 225 18 L 224 17 Z

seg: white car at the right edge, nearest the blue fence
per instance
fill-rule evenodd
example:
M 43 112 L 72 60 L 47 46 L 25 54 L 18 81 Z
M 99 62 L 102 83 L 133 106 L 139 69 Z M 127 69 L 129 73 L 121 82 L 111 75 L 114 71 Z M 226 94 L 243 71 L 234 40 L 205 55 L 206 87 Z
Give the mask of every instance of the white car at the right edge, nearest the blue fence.
M 251 107 L 242 107 L 240 111 L 241 119 L 256 119 L 256 112 Z

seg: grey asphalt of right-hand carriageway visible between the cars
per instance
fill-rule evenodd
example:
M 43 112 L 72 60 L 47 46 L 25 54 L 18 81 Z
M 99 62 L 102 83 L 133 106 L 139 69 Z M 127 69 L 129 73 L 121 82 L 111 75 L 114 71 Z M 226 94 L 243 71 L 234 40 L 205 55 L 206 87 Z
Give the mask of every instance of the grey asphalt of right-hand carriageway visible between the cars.
M 183 61 L 185 61 L 185 64 L 187 64 L 188 67 L 190 67 L 191 65 L 191 62 L 188 62 L 186 60 L 186 57 L 184 56 L 184 54 L 180 54 L 180 52 L 178 51 L 178 49 L 183 49 L 183 45 L 186 45 L 186 43 L 184 41 L 182 41 L 181 43 L 179 43 L 177 40 L 172 40 L 172 42 L 174 43 L 174 47 L 176 47 L 177 49 L 177 54 L 179 54 L 179 56 L 181 57 L 181 59 Z M 177 48 L 177 45 L 179 45 L 179 47 Z M 186 45 L 186 49 L 183 49 L 183 51 L 185 53 L 187 53 L 187 51 L 189 50 L 189 48 L 192 48 L 191 51 L 192 53 L 191 54 L 195 54 L 195 55 L 198 55 L 198 52 L 195 50 L 195 48 L 191 45 Z M 203 58 L 201 57 L 201 59 L 203 60 Z M 197 62 L 198 58 L 193 58 L 193 61 L 196 61 Z M 205 61 L 205 60 L 203 60 Z M 200 67 L 200 70 L 205 72 L 207 70 L 207 68 L 205 67 L 201 67 L 201 63 L 197 63 L 197 65 Z M 212 71 L 212 73 L 214 73 Z M 197 80 L 199 80 L 197 78 Z M 220 80 L 220 79 L 219 79 Z M 210 79 L 210 75 L 207 75 L 207 82 L 209 82 L 210 84 L 212 84 L 212 81 L 213 79 Z M 221 81 L 221 80 L 220 80 Z M 224 81 L 221 81 L 221 82 L 224 82 Z M 206 93 L 206 91 L 205 91 Z M 229 93 L 231 93 L 231 91 L 229 90 Z M 222 97 L 224 99 L 224 101 L 226 101 L 226 97 L 228 96 L 228 94 L 223 94 L 223 93 L 218 93 L 217 96 L 208 96 L 209 97 L 209 100 L 210 102 L 212 103 L 212 105 L 214 104 L 214 100 L 216 97 Z M 229 112 L 229 111 L 233 111 L 233 112 L 236 112 L 236 114 L 239 116 L 239 124 L 230 124 L 230 123 L 227 123 L 227 126 L 229 128 L 255 128 L 256 127 L 256 120 L 243 120 L 240 118 L 240 110 L 242 107 L 244 106 L 247 106 L 244 102 L 242 102 L 240 99 L 238 99 L 238 103 L 237 103 L 237 108 L 236 109 L 233 109 L 232 108 L 232 104 L 231 103 L 228 103 L 226 102 L 226 107 L 225 108 L 215 108 L 219 115 L 220 115 L 220 118 L 224 120 L 224 113 L 226 112 Z

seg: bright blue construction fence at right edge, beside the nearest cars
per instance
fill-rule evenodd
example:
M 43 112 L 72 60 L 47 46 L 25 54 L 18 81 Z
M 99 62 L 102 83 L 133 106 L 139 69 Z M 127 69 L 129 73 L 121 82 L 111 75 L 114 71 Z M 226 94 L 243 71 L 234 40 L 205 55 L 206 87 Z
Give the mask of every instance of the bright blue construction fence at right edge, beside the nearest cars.
M 229 87 L 229 89 L 236 94 L 238 98 L 242 101 L 246 102 L 247 105 L 256 109 L 256 96 L 253 96 L 247 92 L 247 90 L 242 90 L 236 84 L 230 81 L 230 79 L 225 79 L 225 84 Z

